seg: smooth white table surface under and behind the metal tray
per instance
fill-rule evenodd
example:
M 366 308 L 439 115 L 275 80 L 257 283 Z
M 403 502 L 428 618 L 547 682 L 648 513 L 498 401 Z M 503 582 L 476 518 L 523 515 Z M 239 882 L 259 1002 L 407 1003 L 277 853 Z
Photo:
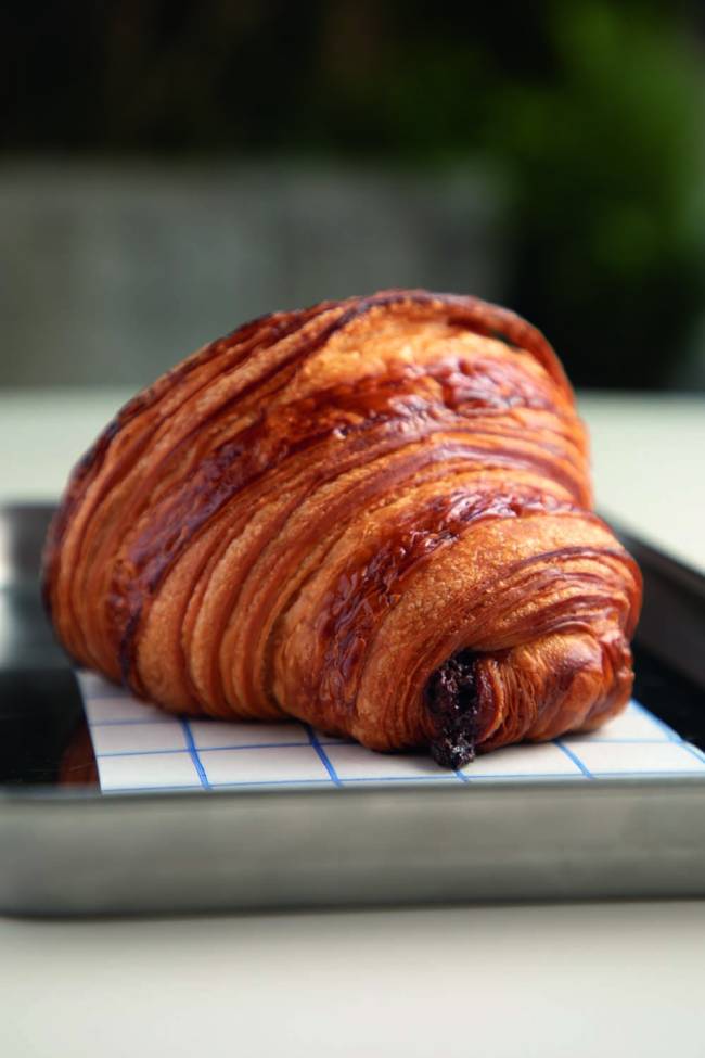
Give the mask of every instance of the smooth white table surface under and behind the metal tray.
M 124 396 L 0 394 L 0 501 L 54 497 Z M 705 403 L 582 409 L 603 509 L 705 569 Z M 0 919 L 3 1058 L 690 1058 L 704 987 L 703 901 Z

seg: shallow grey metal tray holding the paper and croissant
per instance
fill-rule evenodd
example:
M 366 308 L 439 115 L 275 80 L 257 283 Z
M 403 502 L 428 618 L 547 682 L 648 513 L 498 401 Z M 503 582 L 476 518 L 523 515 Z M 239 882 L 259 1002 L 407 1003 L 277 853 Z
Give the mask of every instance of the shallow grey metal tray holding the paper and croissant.
M 39 600 L 51 508 L 0 508 L 0 910 L 701 896 L 705 779 L 100 792 Z M 705 747 L 705 578 L 633 538 L 636 697 Z

